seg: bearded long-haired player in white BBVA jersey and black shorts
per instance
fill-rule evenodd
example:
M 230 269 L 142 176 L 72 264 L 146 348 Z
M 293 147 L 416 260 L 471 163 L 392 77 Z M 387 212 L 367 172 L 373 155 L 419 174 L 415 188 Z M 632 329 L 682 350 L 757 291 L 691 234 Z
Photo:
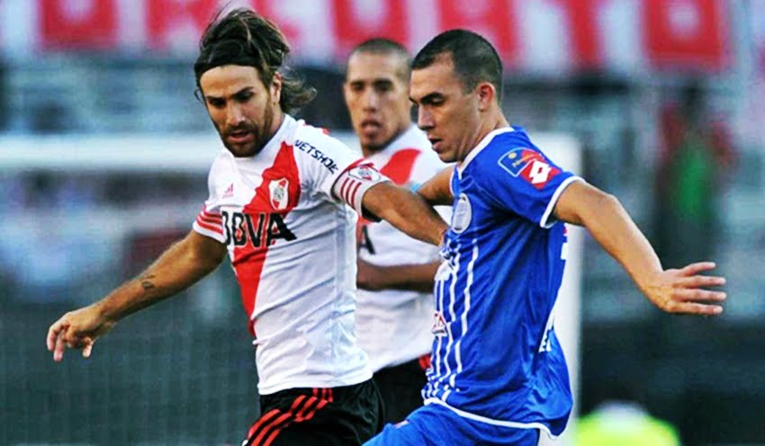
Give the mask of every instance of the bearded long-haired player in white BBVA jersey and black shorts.
M 199 281 L 229 254 L 255 336 L 261 417 L 246 445 L 360 444 L 382 400 L 355 335 L 356 214 L 441 242 L 446 223 L 324 131 L 289 111 L 313 91 L 280 72 L 274 23 L 248 9 L 211 22 L 194 73 L 225 149 L 193 230 L 139 278 L 49 328 L 54 360 L 88 357 L 122 317 Z

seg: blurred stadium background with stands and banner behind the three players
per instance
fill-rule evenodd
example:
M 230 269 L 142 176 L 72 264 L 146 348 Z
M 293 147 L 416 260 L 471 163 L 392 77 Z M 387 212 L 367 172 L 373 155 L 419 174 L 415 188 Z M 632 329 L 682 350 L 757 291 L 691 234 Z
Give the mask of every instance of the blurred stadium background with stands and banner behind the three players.
M 220 143 L 192 62 L 222 4 L 281 25 L 319 90 L 301 116 L 343 138 L 356 42 L 489 37 L 511 122 L 576 138 L 582 173 L 667 264 L 708 256 L 728 278 L 725 316 L 662 315 L 585 236 L 581 415 L 627 396 L 685 445 L 765 444 L 763 0 L 0 0 L 0 444 L 238 444 L 255 420 L 227 266 L 125 320 L 90 361 L 56 364 L 43 339 L 206 198 Z

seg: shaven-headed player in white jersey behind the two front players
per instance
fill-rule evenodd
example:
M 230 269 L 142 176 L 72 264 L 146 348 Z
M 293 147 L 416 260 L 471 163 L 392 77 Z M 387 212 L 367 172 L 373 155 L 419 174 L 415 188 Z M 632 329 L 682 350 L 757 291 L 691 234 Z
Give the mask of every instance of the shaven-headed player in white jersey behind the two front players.
M 417 188 L 446 164 L 411 122 L 410 62 L 401 44 L 366 40 L 348 58 L 343 92 L 365 159 L 393 183 Z M 359 221 L 356 334 L 369 355 L 387 422 L 422 406 L 440 263 L 436 246 L 385 221 Z

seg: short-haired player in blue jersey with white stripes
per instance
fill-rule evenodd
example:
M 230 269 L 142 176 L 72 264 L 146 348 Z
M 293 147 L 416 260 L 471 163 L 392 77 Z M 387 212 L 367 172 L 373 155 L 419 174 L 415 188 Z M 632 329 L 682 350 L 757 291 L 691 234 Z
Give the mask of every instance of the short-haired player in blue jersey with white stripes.
M 452 204 L 437 272 L 436 335 L 425 405 L 372 445 L 536 445 L 572 409 L 554 304 L 563 276 L 563 222 L 587 227 L 655 306 L 717 315 L 725 283 L 714 263 L 665 270 L 612 195 L 547 158 L 500 109 L 502 66 L 491 44 L 453 30 L 412 62 L 410 99 L 433 149 L 456 162 L 419 190 Z

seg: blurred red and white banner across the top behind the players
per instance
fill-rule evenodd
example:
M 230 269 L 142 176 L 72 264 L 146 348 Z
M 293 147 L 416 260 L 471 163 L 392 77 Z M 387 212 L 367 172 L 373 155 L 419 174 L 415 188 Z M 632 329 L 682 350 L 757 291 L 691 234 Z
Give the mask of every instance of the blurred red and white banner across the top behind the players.
M 342 61 L 371 37 L 398 40 L 416 51 L 453 28 L 480 32 L 506 64 L 520 70 L 718 71 L 730 62 L 731 14 L 724 0 L 3 1 L 4 51 L 22 55 L 146 49 L 193 57 L 220 7 L 247 5 L 277 22 L 294 57 L 311 63 Z

